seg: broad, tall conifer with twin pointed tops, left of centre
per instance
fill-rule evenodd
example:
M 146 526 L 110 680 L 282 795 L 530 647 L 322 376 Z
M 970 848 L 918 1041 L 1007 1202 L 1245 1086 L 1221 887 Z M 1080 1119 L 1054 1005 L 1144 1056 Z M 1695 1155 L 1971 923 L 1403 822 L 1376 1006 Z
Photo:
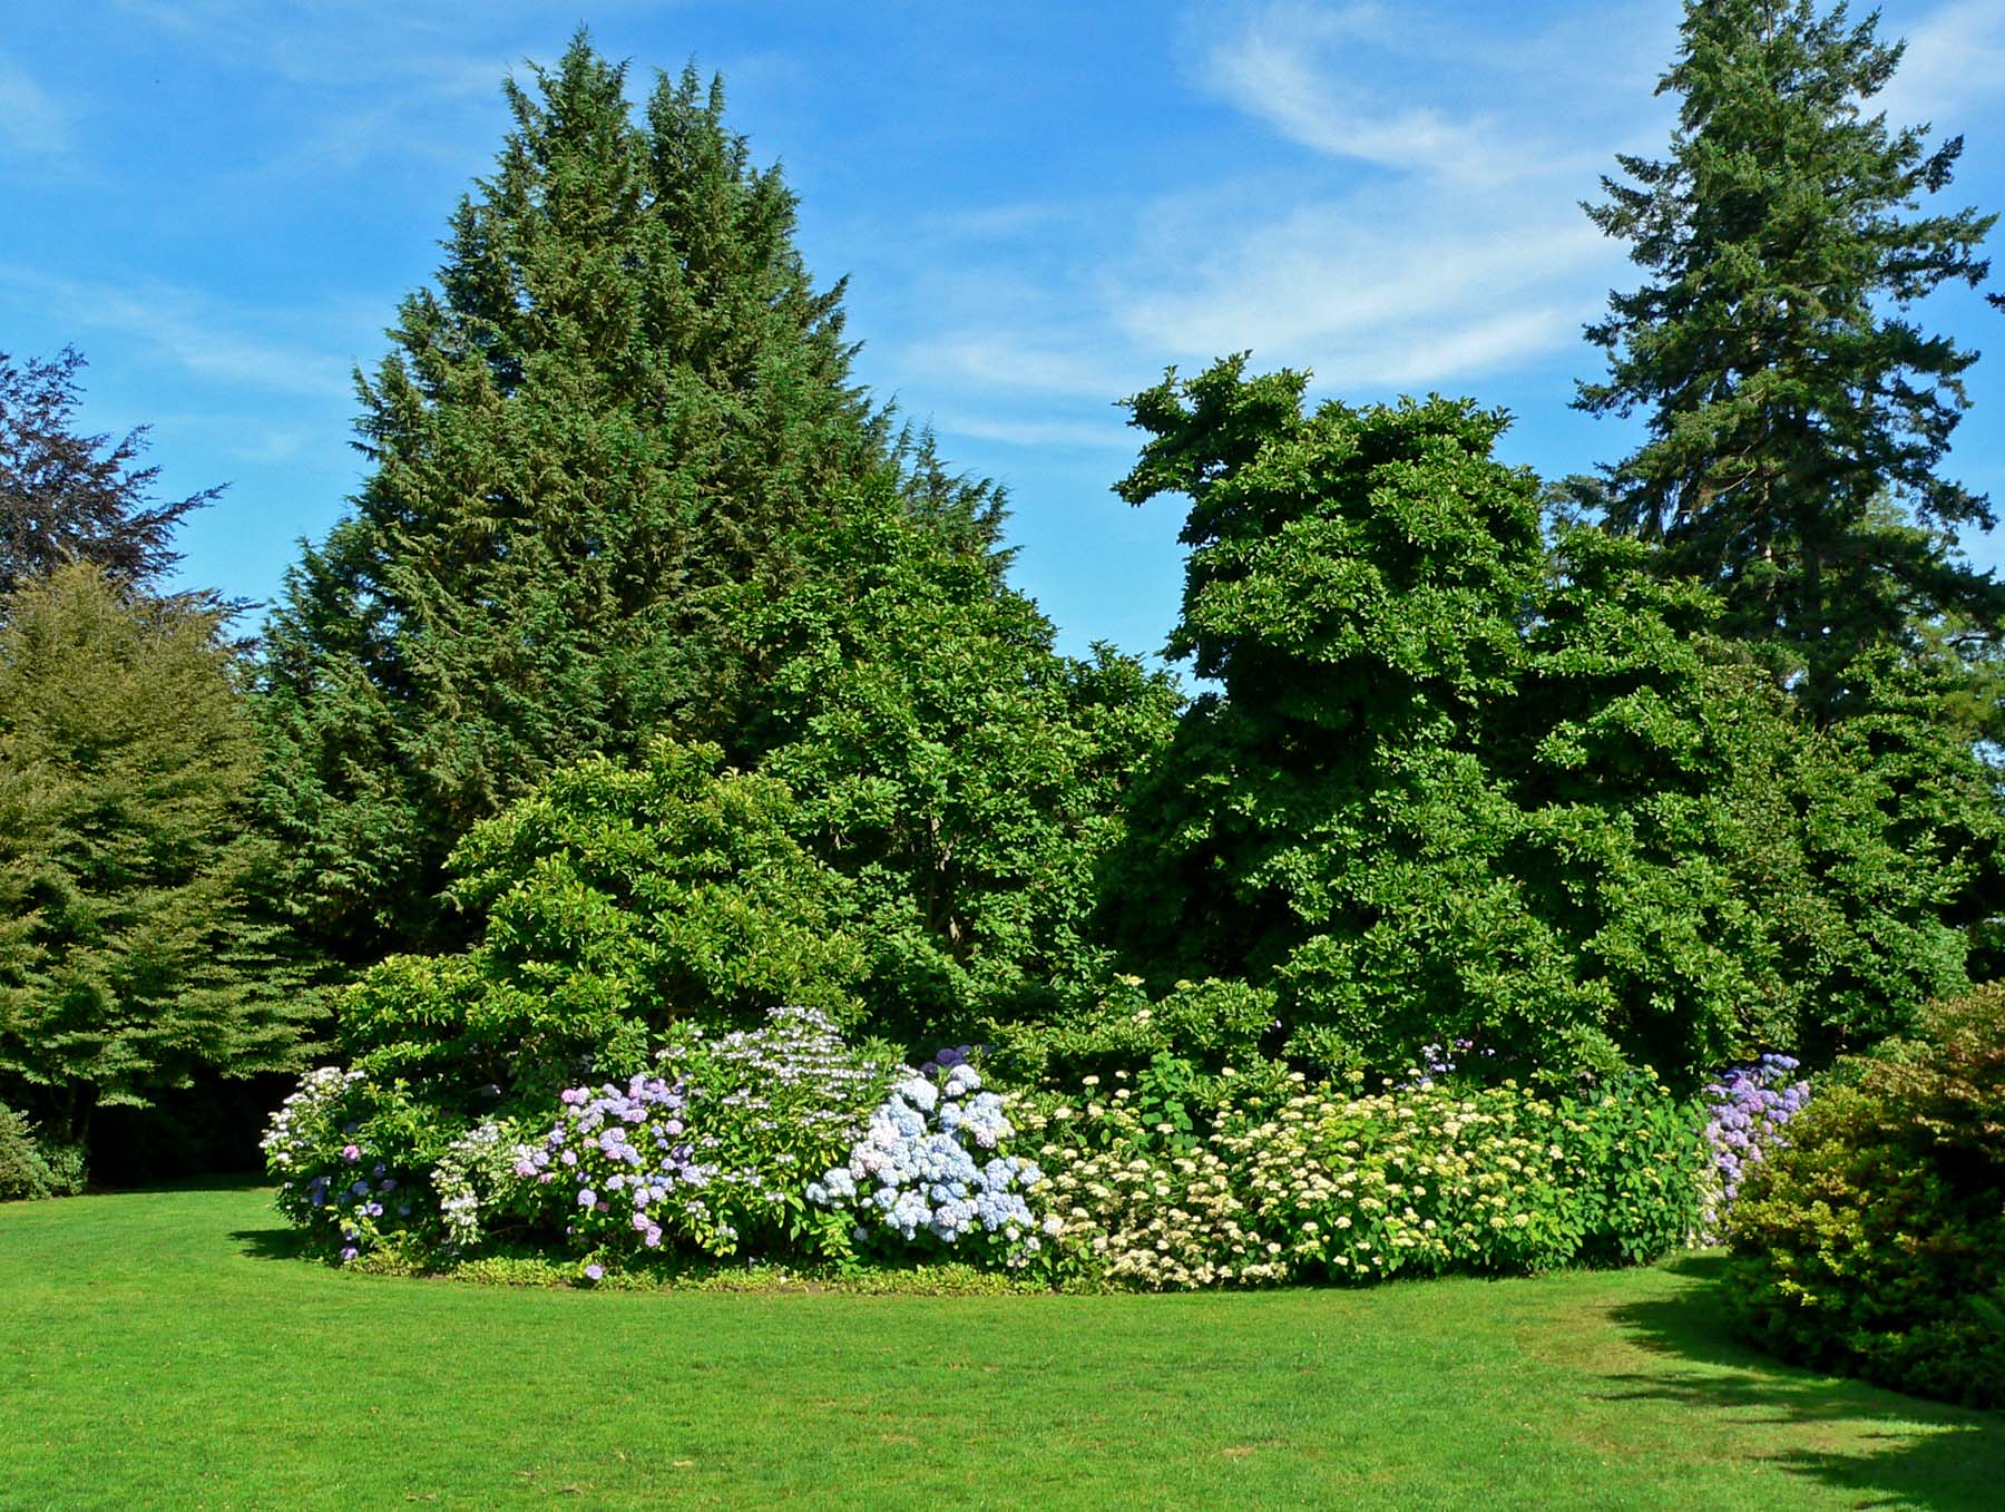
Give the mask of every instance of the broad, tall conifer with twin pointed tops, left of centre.
M 636 120 L 583 32 L 529 72 L 357 381 L 373 473 L 271 622 L 283 900 L 351 961 L 437 940 L 453 842 L 549 768 L 716 734 L 756 674 L 722 606 L 796 582 L 860 479 L 994 547 L 996 497 L 850 381 L 842 285 L 810 283 L 722 86 L 664 76 Z

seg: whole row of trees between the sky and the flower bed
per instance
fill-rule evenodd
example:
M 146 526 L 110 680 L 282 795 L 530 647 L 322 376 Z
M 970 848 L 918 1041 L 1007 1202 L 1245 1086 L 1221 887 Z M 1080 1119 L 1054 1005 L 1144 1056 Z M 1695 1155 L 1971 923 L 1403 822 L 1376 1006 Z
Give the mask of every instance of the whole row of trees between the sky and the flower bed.
M 1909 307 L 1991 217 L 1915 213 L 1961 144 L 1871 114 L 1871 20 L 1682 36 L 1668 156 L 1592 211 L 1644 283 L 1580 403 L 1632 457 L 1546 485 L 1476 403 L 1243 357 L 1129 401 L 1189 702 L 1055 650 L 722 88 L 636 110 L 583 34 L 505 86 L 255 640 L 162 592 L 213 495 L 74 433 L 74 355 L 0 361 L 0 1185 L 333 1045 L 441 1131 L 782 1003 L 1029 1075 L 1466 1041 L 1688 1089 L 1989 977 L 2005 600 L 1937 471 L 1973 353 Z

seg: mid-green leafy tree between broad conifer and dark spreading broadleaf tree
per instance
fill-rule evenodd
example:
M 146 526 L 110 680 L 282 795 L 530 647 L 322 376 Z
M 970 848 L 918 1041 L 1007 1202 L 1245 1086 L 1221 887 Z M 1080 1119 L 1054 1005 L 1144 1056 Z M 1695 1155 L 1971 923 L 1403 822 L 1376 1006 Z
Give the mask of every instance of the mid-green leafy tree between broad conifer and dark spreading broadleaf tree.
M 852 878 L 876 1031 L 930 1045 L 1045 1017 L 1099 975 L 1095 866 L 1177 696 L 1111 648 L 1055 654 L 1029 598 L 882 485 L 824 549 L 840 576 L 748 596 L 770 670 L 730 738 Z

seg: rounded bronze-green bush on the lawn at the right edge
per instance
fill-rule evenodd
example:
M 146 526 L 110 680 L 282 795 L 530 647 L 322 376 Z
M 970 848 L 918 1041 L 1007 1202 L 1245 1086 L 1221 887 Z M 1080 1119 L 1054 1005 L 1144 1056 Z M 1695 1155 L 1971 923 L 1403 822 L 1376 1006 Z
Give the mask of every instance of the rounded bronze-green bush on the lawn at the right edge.
M 2005 985 L 1831 1077 L 1748 1177 L 1728 1295 L 1762 1348 L 2005 1404 Z

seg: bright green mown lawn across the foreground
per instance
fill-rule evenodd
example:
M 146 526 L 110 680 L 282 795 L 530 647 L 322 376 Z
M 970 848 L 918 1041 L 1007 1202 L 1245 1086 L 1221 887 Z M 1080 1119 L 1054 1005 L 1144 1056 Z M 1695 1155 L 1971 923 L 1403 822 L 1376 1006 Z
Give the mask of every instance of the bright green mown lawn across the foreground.
M 1173 1297 L 343 1275 L 267 1193 L 0 1207 L 0 1508 L 1983 1508 L 2005 1418 L 1774 1366 L 1706 1257 Z

